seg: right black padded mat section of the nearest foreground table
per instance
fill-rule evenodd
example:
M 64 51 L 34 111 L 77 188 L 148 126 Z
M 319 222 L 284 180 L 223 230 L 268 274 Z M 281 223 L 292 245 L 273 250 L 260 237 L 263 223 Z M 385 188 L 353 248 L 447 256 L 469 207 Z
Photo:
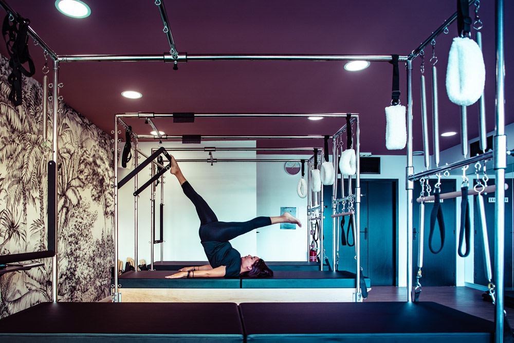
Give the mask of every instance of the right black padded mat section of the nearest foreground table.
M 435 302 L 241 303 L 249 335 L 492 333 L 491 321 Z

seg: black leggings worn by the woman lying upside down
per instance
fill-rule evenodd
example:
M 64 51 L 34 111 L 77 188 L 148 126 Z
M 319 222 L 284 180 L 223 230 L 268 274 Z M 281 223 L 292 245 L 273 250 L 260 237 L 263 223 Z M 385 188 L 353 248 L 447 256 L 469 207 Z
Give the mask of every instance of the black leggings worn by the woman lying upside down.
M 196 213 L 198 213 L 198 218 L 200 219 L 198 233 L 202 242 L 227 242 L 258 227 L 271 225 L 271 219 L 263 216 L 248 222 L 219 222 L 216 214 L 207 205 L 204 198 L 195 192 L 189 182 L 186 181 L 182 184 L 182 190 L 191 200 L 196 208 Z

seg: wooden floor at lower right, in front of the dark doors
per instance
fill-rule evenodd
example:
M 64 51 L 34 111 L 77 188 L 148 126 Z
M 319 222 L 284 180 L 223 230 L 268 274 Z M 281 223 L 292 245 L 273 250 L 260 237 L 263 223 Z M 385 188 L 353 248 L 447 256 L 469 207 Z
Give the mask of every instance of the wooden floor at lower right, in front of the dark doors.
M 494 305 L 482 300 L 483 291 L 470 287 L 423 287 L 419 301 L 433 301 L 473 316 L 494 320 Z M 407 301 L 406 287 L 373 286 L 364 301 Z M 514 309 L 505 308 L 510 323 Z

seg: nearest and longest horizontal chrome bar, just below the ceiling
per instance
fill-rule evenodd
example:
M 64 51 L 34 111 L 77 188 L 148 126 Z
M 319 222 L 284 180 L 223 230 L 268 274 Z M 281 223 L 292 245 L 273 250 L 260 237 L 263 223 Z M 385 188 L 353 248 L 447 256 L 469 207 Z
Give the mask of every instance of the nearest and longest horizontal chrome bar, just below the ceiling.
M 408 56 L 400 56 L 398 61 L 407 61 Z M 179 52 L 178 58 L 164 53 L 163 55 L 62 55 L 60 62 L 189 62 L 189 61 L 370 61 L 390 62 L 390 55 L 212 55 L 188 54 Z

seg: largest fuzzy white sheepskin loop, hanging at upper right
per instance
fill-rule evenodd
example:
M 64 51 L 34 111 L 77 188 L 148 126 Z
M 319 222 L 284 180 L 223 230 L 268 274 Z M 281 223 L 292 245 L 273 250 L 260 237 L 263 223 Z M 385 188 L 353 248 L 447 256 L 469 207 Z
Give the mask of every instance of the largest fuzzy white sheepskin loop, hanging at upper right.
M 448 98 L 457 105 L 472 105 L 482 96 L 484 84 L 484 57 L 479 45 L 467 37 L 454 38 L 446 69 Z

